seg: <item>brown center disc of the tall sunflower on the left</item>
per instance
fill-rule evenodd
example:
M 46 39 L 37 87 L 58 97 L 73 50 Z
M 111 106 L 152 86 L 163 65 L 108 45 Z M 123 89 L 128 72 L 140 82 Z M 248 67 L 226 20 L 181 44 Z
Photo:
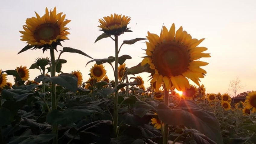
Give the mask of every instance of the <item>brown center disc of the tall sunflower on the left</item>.
M 40 40 L 50 42 L 50 40 L 54 40 L 58 35 L 59 35 L 59 26 L 57 23 L 41 24 L 36 28 L 34 32 L 34 36 L 37 42 L 40 42 Z

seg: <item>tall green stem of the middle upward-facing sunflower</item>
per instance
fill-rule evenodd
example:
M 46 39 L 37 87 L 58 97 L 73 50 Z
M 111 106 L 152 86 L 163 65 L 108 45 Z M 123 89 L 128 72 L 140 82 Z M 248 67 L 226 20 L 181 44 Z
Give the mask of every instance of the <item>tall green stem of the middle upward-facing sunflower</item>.
M 118 35 L 115 36 L 115 86 L 118 85 Z M 114 135 L 117 136 L 117 123 L 118 123 L 118 91 L 114 97 Z

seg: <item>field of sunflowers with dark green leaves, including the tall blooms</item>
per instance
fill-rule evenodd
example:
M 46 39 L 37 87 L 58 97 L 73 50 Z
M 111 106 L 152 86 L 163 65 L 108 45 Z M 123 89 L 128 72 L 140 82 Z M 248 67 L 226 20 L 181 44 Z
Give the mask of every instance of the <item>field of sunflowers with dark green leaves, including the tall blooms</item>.
M 159 34 L 120 42 L 120 35 L 132 32 L 131 18 L 111 14 L 99 19 L 102 34 L 95 43 L 113 41 L 115 55 L 93 59 L 62 47 L 70 34 L 65 16 L 46 8 L 44 15 L 27 18 L 20 31 L 27 45 L 18 54 L 41 49 L 50 56 L 35 58 L 31 66 L 0 68 L 0 144 L 256 143 L 256 91 L 235 103 L 226 93 L 206 94 L 200 84 L 206 74 L 201 67 L 208 65 L 200 59 L 210 57 L 199 46 L 204 39 L 172 24 L 159 27 Z M 132 57 L 120 56 L 121 48 L 138 41 L 145 42 L 145 55 L 127 66 Z M 63 53 L 91 58 L 90 78 L 79 70 L 63 72 Z M 38 71 L 33 80 L 30 69 Z M 134 76 L 142 72 L 150 73 L 149 79 Z

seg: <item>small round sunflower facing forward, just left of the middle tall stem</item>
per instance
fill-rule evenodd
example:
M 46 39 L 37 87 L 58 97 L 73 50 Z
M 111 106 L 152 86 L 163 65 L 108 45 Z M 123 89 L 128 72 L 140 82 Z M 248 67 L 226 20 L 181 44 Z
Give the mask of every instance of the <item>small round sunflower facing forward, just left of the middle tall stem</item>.
M 91 77 L 97 79 L 97 81 L 101 81 L 106 75 L 106 70 L 103 65 L 94 64 L 90 69 Z

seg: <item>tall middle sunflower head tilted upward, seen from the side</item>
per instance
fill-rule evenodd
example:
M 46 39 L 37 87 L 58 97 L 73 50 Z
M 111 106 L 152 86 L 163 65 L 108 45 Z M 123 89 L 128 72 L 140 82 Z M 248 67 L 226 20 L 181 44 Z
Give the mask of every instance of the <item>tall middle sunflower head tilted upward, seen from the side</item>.
M 129 30 L 127 25 L 130 23 L 131 18 L 128 16 L 122 16 L 121 14 L 111 14 L 110 16 L 99 19 L 101 28 L 104 33 L 109 35 L 120 35 Z

